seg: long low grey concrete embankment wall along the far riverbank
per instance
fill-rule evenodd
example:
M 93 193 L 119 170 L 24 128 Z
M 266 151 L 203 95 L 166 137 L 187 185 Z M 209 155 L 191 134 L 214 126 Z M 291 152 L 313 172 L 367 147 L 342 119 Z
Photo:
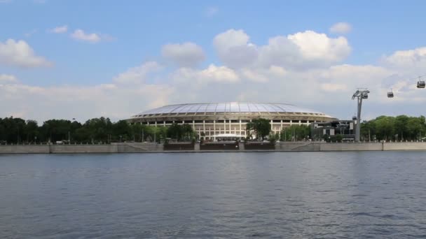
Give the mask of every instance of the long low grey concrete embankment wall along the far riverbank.
M 235 146 L 234 146 L 235 148 Z M 236 148 L 235 148 L 236 149 Z M 233 152 L 331 152 L 331 151 L 390 151 L 424 150 L 426 143 L 320 143 L 286 142 L 277 143 L 275 149 L 256 148 L 249 150 L 240 143 Z M 142 152 L 222 152 L 222 148 L 203 150 L 195 144 L 192 150 L 165 150 L 155 143 L 111 143 L 110 145 L 0 145 L 0 154 L 78 154 L 78 153 L 142 153 Z

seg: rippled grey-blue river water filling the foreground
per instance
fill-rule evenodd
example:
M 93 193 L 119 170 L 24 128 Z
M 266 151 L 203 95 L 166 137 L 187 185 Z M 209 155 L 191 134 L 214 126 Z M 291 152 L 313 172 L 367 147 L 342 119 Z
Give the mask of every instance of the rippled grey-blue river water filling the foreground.
M 0 238 L 425 238 L 425 152 L 0 156 Z

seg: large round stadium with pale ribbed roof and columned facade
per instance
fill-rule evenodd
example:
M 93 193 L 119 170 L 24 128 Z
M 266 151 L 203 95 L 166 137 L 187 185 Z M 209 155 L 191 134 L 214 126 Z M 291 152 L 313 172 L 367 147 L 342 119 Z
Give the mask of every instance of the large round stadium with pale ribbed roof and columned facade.
M 327 122 L 334 117 L 315 110 L 286 103 L 185 103 L 162 106 L 133 115 L 130 124 L 169 126 L 173 123 L 190 124 L 198 136 L 206 140 L 245 138 L 245 126 L 252 119 L 269 119 L 271 132 L 293 124 L 309 125 Z

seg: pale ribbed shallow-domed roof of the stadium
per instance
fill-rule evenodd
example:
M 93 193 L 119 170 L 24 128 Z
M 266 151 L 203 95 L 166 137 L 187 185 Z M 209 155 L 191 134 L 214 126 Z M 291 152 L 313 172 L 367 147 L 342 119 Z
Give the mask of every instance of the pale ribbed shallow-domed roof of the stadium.
M 139 115 L 177 114 L 177 113 L 324 113 L 287 103 L 185 103 L 162 106 L 147 110 Z

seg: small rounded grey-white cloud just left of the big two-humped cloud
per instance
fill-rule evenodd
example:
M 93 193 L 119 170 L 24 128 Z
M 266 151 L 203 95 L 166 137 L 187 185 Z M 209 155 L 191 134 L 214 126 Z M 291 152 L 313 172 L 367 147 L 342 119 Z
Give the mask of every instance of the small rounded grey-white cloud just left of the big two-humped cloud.
M 195 43 L 167 44 L 163 45 L 161 54 L 167 60 L 178 66 L 196 66 L 205 59 L 202 48 Z

